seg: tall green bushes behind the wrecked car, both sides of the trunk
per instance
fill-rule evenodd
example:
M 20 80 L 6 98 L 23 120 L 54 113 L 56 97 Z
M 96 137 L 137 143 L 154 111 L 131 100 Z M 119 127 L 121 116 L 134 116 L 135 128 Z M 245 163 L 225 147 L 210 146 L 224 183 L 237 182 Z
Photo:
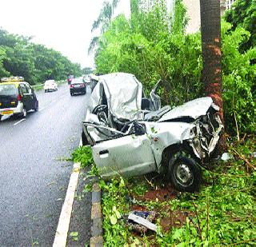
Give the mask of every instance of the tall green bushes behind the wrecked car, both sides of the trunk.
M 112 19 L 98 38 L 97 72 L 134 74 L 147 92 L 162 78 L 162 102 L 171 106 L 202 97 L 201 34 L 185 34 L 182 1 L 176 1 L 174 16 L 164 0 L 148 7 L 132 2 L 131 19 Z M 256 124 L 256 7 L 254 0 L 237 0 L 234 6 L 222 18 L 222 84 L 226 131 L 240 138 L 253 133 Z

